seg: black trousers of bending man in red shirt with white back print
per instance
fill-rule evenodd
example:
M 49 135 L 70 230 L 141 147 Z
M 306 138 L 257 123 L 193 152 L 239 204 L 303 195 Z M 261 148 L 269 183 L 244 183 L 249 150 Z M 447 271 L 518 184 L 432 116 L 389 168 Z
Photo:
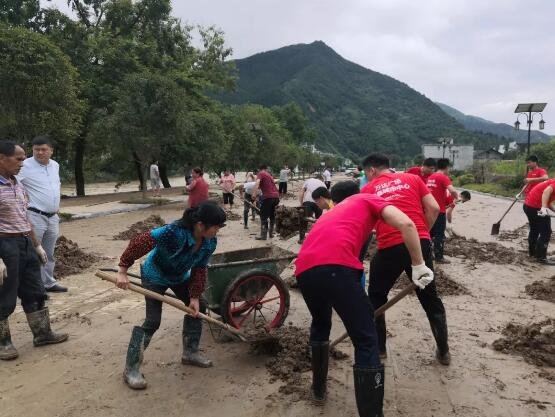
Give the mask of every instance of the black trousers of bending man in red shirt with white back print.
M 422 255 L 426 266 L 432 271 L 434 264 L 432 260 L 431 243 L 427 239 L 420 240 L 422 247 Z M 399 278 L 399 275 L 405 271 L 410 277 L 412 273 L 411 259 L 409 251 L 404 244 L 392 246 L 387 249 L 379 250 L 370 262 L 370 282 L 368 284 L 368 296 L 374 309 L 377 309 L 387 302 L 389 291 Z M 410 278 L 409 278 L 410 279 Z M 420 305 L 426 312 L 434 337 L 438 347 L 442 351 L 448 350 L 447 334 L 438 334 L 437 328 L 447 328 L 445 307 L 437 294 L 435 280 L 426 286 L 423 290 L 416 289 L 416 296 Z M 385 315 L 376 319 L 376 331 L 378 333 L 378 341 L 380 351 L 385 352 L 386 326 Z M 441 332 L 439 332 L 441 333 Z

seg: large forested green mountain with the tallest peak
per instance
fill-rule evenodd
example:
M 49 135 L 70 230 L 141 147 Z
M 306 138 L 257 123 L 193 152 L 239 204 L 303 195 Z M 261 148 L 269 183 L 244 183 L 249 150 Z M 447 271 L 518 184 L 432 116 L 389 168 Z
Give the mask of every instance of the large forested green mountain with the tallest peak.
M 497 145 L 495 135 L 466 130 L 434 102 L 394 78 L 339 56 L 324 42 L 286 46 L 235 61 L 234 93 L 227 103 L 265 106 L 296 102 L 318 138 L 316 146 L 351 158 L 371 151 L 407 160 L 420 145 L 442 136 L 477 148 Z

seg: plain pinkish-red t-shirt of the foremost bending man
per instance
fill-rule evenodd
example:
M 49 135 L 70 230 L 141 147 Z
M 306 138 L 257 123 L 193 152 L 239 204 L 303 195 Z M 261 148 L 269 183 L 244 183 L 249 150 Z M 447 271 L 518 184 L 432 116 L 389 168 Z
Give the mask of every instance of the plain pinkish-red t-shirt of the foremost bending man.
M 389 203 L 374 194 L 355 194 L 312 226 L 295 261 L 295 276 L 320 265 L 362 270 L 359 255 Z

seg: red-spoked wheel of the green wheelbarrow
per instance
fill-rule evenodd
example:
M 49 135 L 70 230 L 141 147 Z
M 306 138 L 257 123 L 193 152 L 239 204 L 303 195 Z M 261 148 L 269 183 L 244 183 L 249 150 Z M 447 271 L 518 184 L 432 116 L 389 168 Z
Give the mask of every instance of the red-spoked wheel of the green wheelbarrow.
M 274 329 L 289 313 L 289 289 L 271 272 L 247 271 L 227 286 L 221 310 L 224 321 L 237 329 Z

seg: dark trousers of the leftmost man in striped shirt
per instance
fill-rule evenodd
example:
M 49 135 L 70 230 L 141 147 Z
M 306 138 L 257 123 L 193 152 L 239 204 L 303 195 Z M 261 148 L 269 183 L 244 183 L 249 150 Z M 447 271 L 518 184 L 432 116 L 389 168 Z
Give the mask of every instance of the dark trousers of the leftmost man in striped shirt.
M 0 237 L 0 258 L 8 276 L 0 286 L 0 320 L 15 310 L 17 297 L 26 313 L 44 307 L 46 291 L 40 276 L 40 262 L 29 237 Z

